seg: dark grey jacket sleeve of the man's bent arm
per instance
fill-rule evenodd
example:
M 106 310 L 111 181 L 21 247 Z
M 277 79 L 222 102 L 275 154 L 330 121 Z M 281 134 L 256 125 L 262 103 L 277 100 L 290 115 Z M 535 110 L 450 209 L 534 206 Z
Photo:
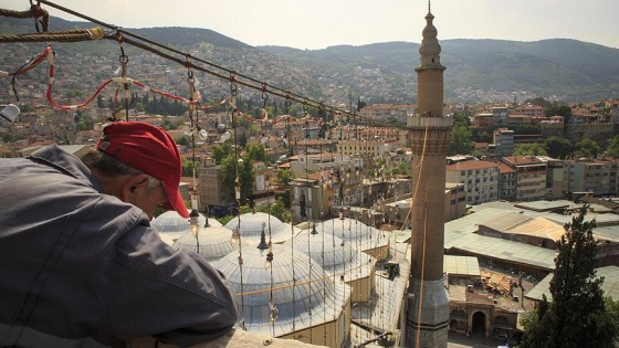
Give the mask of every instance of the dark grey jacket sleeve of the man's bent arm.
M 128 340 L 155 336 L 187 347 L 237 323 L 237 300 L 223 275 L 190 251 L 175 251 L 148 226 L 132 229 L 111 257 L 111 331 Z

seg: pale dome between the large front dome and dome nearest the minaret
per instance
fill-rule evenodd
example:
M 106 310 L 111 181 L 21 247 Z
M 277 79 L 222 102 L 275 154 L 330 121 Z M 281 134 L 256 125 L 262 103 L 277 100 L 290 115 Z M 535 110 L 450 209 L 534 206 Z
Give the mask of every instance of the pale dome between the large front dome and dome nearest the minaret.
M 284 243 L 293 245 L 297 251 L 307 253 L 312 257 L 312 263 L 322 266 L 329 275 L 339 280 L 345 276 L 345 282 L 350 282 L 371 275 L 374 257 L 361 254 L 352 243 L 346 243 L 343 239 L 334 234 L 311 233 L 303 231 Z

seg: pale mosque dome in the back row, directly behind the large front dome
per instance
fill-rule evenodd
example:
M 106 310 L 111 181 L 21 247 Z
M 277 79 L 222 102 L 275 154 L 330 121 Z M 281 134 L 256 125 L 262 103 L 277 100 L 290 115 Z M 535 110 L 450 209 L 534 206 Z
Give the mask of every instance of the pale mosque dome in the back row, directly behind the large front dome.
M 290 223 L 282 222 L 280 219 L 263 212 L 244 213 L 240 215 L 240 220 L 241 241 L 248 245 L 258 245 L 263 230 L 266 241 L 271 240 L 272 243 L 283 243 L 291 239 L 293 233 L 301 232 L 300 229 Z M 237 230 L 238 226 L 239 218 L 234 218 L 225 224 L 225 228 L 232 231 Z M 269 235 L 269 232 L 271 232 L 271 235 Z

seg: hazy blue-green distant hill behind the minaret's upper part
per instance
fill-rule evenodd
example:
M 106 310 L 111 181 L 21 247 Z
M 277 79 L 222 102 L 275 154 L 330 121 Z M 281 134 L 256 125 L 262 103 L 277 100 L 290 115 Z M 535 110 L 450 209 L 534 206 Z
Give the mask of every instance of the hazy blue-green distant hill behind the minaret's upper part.
M 596 99 L 619 96 L 619 50 L 568 39 L 536 42 L 441 40 L 447 66 L 445 96 L 483 98 L 527 91 L 542 97 Z M 347 75 L 356 66 L 415 78 L 419 44 L 376 43 L 303 51 L 280 46 L 262 50 L 296 64 Z M 343 77 L 344 77 L 343 76 Z

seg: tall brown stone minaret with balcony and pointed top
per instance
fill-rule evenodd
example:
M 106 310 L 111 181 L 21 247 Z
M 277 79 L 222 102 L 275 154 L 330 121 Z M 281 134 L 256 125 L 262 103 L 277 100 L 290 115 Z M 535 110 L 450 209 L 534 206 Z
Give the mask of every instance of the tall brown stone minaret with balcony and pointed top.
M 428 14 L 419 48 L 417 114 L 407 128 L 412 147 L 411 253 L 407 346 L 447 347 L 449 295 L 444 288 L 445 157 L 453 119 L 443 117 L 443 71 L 438 31 Z

